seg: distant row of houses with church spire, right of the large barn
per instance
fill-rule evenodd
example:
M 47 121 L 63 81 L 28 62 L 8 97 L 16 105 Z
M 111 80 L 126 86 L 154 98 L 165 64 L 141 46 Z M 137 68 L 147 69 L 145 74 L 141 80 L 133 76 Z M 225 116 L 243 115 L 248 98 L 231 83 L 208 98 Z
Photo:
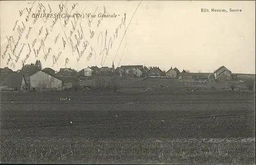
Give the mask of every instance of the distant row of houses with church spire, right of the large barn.
M 177 79 L 224 79 L 231 80 L 234 74 L 225 66 L 221 66 L 214 71 L 214 73 L 188 73 L 184 69 L 182 72 L 177 67 L 171 67 L 167 72 L 162 71 L 159 67 L 146 68 L 143 65 L 122 65 L 115 69 L 114 64 L 112 67 L 97 66 L 87 67 L 80 72 L 83 76 L 92 75 L 115 75 L 122 77 L 123 75 L 131 75 L 135 77 L 166 77 Z

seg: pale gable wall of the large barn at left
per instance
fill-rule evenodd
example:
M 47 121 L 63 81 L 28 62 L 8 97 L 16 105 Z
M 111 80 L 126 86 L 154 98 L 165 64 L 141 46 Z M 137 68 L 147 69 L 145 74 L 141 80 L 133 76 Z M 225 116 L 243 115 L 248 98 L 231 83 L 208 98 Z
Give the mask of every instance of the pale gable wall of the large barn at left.
M 62 81 L 59 79 L 56 79 L 44 72 L 41 72 L 40 70 L 36 72 L 35 74 L 30 76 L 30 87 L 31 88 L 57 88 L 61 87 Z

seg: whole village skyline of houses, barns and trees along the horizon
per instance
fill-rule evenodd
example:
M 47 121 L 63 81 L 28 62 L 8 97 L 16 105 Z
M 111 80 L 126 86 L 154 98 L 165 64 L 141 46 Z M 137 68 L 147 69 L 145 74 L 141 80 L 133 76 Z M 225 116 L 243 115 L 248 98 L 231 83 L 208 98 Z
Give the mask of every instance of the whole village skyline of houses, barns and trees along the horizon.
M 189 70 L 183 69 L 181 71 L 177 67 L 172 66 L 167 71 L 161 70 L 158 66 L 146 67 L 143 65 L 121 65 L 115 68 L 113 62 L 111 67 L 88 66 L 78 72 L 75 69 L 67 67 L 60 68 L 58 71 L 48 67 L 41 68 L 41 63 L 37 60 L 35 64 L 26 64 L 16 72 L 13 72 L 8 67 L 1 68 L 0 89 L 2 91 L 57 91 L 67 90 L 75 86 L 92 86 L 92 81 L 89 80 L 93 78 L 123 77 L 133 79 L 133 82 L 142 81 L 145 78 L 155 78 L 158 80 L 175 80 L 182 84 L 189 84 L 191 82 L 199 84 L 206 82 L 226 83 L 229 81 L 237 81 L 242 84 L 247 80 L 250 80 L 250 83 L 251 80 L 253 82 L 255 80 L 255 74 L 232 73 L 225 66 L 220 66 L 212 73 L 190 73 Z M 161 81 L 158 81 L 158 83 L 155 87 L 173 85 L 172 81 L 164 85 Z M 93 84 L 94 86 L 99 86 L 95 81 Z M 133 87 L 136 87 L 136 85 Z

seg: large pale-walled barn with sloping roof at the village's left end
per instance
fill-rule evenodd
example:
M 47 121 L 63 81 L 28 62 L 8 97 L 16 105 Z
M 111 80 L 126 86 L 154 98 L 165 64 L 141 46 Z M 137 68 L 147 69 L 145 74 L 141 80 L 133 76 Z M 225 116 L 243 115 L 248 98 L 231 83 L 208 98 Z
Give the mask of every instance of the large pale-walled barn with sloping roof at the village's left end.
M 53 75 L 45 73 L 42 70 L 38 70 L 37 72 L 31 75 L 23 75 L 22 85 L 20 89 L 22 90 L 58 90 L 62 89 L 63 81 L 59 80 Z

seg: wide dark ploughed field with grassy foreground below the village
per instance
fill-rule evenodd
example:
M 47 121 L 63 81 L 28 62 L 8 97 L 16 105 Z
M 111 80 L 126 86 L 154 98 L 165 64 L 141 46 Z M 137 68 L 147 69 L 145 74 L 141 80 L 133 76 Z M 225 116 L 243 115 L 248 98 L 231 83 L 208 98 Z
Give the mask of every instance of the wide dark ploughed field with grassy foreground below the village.
M 255 163 L 251 92 L 2 92 L 0 100 L 1 162 Z

